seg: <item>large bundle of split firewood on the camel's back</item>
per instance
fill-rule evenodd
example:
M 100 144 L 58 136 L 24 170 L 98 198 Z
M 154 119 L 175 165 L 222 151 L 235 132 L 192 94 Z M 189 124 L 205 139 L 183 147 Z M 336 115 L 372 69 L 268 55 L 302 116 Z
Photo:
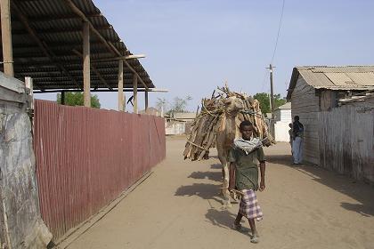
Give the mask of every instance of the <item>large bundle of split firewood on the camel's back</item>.
M 201 100 L 201 110 L 187 136 L 184 159 L 207 159 L 209 149 L 215 148 L 217 133 L 227 116 L 235 118 L 237 133 L 240 122 L 249 120 L 255 128 L 254 136 L 262 139 L 264 146 L 272 145 L 273 139 L 268 133 L 258 100 L 245 93 L 231 92 L 227 86 L 217 89 L 210 99 Z

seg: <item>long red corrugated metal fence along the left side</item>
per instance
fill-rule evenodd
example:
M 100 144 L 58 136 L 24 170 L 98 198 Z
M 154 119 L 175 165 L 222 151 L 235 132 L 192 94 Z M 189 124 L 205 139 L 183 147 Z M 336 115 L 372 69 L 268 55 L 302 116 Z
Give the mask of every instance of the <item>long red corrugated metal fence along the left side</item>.
M 164 119 L 36 100 L 40 208 L 56 241 L 166 157 Z

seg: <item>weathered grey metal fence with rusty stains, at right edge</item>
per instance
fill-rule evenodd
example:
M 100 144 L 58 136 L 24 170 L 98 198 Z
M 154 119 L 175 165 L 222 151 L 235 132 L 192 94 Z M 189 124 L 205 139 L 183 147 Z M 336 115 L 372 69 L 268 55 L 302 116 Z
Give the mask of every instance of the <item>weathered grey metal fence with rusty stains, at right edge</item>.
M 374 183 L 374 101 L 319 113 L 321 166 Z

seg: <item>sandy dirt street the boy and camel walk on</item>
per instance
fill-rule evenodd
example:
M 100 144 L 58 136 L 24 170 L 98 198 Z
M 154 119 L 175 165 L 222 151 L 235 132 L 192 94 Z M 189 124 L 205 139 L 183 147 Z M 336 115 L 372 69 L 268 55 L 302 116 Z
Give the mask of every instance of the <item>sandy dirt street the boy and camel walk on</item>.
M 184 141 L 167 139 L 167 159 L 69 248 L 374 248 L 374 188 L 318 167 L 289 164 L 289 144 L 265 149 L 260 243 L 231 229 L 238 204 L 222 209 L 215 150 L 183 161 Z M 248 222 L 242 221 L 245 228 Z

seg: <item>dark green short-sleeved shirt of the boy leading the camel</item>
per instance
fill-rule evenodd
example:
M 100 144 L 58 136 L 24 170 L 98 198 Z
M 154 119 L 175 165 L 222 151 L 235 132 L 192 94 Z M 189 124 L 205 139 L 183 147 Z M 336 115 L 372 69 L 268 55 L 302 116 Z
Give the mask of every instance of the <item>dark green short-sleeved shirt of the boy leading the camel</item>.
M 232 148 L 229 152 L 229 162 L 235 164 L 236 188 L 258 189 L 258 165 L 264 162 L 264 149 L 255 149 L 248 155 L 242 149 Z

